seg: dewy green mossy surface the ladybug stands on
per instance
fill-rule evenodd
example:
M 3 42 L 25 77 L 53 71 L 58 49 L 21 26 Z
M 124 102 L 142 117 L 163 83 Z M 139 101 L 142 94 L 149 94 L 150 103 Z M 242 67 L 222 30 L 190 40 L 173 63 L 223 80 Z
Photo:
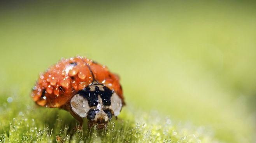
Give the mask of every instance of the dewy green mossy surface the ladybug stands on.
M 146 113 L 125 107 L 107 129 L 88 130 L 84 124 L 83 131 L 75 132 L 77 121 L 68 112 L 34 105 L 10 109 L 11 104 L 24 106 L 22 103 L 4 104 L 4 110 L 10 112 L 1 117 L 1 143 L 217 143 L 204 127 L 173 122 L 156 111 Z

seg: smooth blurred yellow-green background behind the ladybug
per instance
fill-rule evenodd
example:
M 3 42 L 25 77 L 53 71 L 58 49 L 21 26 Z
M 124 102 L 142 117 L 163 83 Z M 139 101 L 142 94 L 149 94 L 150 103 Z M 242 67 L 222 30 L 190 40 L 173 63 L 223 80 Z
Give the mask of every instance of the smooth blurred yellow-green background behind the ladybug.
M 118 73 L 128 106 L 255 141 L 254 2 L 0 3 L 1 93 L 33 104 L 39 72 L 75 55 Z

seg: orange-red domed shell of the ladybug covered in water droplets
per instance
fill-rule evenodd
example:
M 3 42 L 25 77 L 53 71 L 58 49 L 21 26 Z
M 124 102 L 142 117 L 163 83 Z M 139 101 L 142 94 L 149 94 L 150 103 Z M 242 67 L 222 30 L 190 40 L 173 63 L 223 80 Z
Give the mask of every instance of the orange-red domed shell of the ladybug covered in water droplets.
M 85 57 L 62 59 L 41 74 L 33 87 L 32 98 L 40 106 L 61 107 L 79 90 L 93 82 L 103 84 L 114 90 L 123 100 L 123 91 L 119 77 Z

